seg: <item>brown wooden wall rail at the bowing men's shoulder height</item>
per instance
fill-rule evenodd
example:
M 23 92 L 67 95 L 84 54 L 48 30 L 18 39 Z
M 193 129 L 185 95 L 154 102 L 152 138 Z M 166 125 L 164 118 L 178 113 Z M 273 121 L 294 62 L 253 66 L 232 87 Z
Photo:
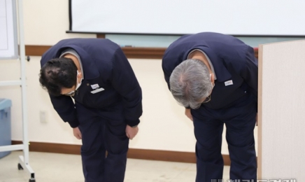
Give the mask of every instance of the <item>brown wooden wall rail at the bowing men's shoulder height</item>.
M 25 55 L 41 56 L 51 45 L 25 45 Z M 162 59 L 166 48 L 122 48 L 127 58 L 137 59 Z M 255 57 L 258 56 L 258 49 L 254 49 Z

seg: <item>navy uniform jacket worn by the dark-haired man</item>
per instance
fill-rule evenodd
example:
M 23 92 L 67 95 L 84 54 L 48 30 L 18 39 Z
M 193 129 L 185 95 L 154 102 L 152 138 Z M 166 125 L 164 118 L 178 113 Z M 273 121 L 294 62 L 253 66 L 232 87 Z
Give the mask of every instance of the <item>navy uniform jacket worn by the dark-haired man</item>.
M 67 48 L 76 50 L 83 64 L 84 79 L 73 97 L 76 106 L 79 104 L 80 108 L 107 113 L 122 105 L 123 119 L 127 125 L 138 125 L 142 114 L 141 87 L 120 46 L 101 38 L 65 39 L 43 54 L 41 66 L 48 60 L 59 57 Z M 91 85 L 94 84 L 98 84 L 104 90 L 92 94 Z M 64 122 L 68 122 L 71 127 L 79 125 L 71 97 L 50 95 L 50 99 Z M 118 114 L 112 114 L 110 117 L 115 120 L 115 115 Z

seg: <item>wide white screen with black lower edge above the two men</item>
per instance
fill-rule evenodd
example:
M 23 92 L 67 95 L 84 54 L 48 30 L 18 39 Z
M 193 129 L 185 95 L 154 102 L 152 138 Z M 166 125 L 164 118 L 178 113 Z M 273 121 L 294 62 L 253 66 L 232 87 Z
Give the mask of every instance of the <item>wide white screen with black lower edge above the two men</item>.
M 70 0 L 70 30 L 305 36 L 304 0 Z

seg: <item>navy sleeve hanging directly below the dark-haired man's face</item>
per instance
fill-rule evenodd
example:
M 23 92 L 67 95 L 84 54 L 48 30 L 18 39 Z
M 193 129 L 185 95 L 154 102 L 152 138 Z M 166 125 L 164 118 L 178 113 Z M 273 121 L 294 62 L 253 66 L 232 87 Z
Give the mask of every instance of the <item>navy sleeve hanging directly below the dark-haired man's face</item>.
M 57 111 L 58 115 L 62 120 L 64 120 L 64 122 L 68 122 L 73 128 L 80 125 L 76 117 L 76 109 L 71 97 L 64 95 L 54 97 L 50 95 L 50 99 L 55 111 Z

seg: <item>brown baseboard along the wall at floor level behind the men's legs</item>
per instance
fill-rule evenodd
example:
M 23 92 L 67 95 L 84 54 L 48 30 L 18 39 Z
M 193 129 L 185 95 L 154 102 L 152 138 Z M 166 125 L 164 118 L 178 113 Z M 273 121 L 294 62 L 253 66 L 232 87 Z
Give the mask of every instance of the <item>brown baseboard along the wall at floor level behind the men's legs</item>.
M 12 141 L 12 144 L 22 144 L 22 141 Z M 29 142 L 29 151 L 42 153 L 64 153 L 80 155 L 80 145 L 52 144 L 43 142 Z M 127 158 L 141 160 L 160 160 L 166 162 L 196 163 L 195 153 L 178 151 L 159 151 L 149 149 L 129 148 Z M 222 155 L 225 165 L 230 165 L 229 155 Z

